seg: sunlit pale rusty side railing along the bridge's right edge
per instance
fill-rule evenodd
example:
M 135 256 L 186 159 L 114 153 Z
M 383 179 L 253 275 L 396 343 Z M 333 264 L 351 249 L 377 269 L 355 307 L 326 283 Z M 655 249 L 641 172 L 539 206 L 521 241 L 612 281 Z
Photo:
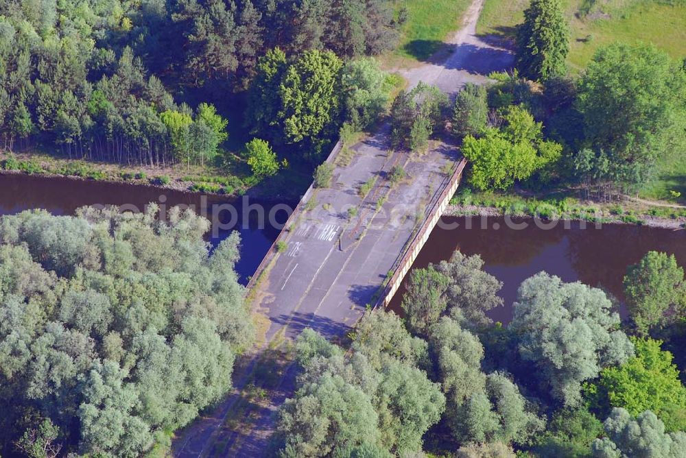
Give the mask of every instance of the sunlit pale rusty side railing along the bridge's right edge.
M 393 274 L 390 276 L 388 282 L 386 282 L 386 285 L 381 290 L 381 295 L 379 296 L 377 302 L 372 304 L 374 308 L 378 306 L 388 306 L 390 300 L 400 288 L 405 275 L 407 275 L 407 272 L 410 271 L 410 267 L 412 267 L 412 264 L 423 248 L 424 243 L 426 243 L 427 239 L 429 239 L 429 234 L 431 234 L 431 231 L 434 230 L 434 227 L 438 223 L 440 217 L 442 217 L 445 208 L 448 206 L 451 198 L 457 191 L 466 163 L 467 162 L 465 159 L 462 159 L 458 163 L 458 166 L 456 167 L 455 171 L 453 171 L 452 176 L 449 178 L 447 184 L 445 184 L 443 187 L 443 190 L 441 191 L 440 195 L 438 195 L 438 198 L 434 197 L 431 199 L 431 203 L 429 204 L 430 208 L 422 221 L 421 227 L 414 235 L 409 245 L 407 245 L 404 253 L 401 254 L 401 256 L 399 256 L 397 261 L 394 263 L 393 268 L 391 269 Z

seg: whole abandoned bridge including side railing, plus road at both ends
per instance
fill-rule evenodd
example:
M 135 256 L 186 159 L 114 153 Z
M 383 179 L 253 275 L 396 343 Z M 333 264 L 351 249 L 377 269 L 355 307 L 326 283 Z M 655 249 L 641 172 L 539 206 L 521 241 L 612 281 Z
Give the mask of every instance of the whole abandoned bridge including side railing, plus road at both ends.
M 454 94 L 466 82 L 486 82 L 511 67 L 512 55 L 476 33 L 484 0 L 474 0 L 442 60 L 399 73 Z M 268 453 L 274 413 L 292 396 L 295 365 L 281 352 L 304 328 L 335 339 L 368 306 L 386 306 L 460 184 L 465 162 L 451 141 L 423 154 L 390 147 L 388 124 L 355 145 L 336 145 L 327 159 L 331 186 L 311 187 L 248 285 L 266 329 L 262 344 L 242 359 L 233 393 L 174 439 L 177 457 L 260 457 Z M 405 178 L 389 180 L 393 167 Z M 277 248 L 279 248 L 277 250 Z M 270 378 L 270 381 L 266 379 Z M 255 387 L 265 397 L 255 398 Z M 262 391 L 260 391 L 262 392 Z

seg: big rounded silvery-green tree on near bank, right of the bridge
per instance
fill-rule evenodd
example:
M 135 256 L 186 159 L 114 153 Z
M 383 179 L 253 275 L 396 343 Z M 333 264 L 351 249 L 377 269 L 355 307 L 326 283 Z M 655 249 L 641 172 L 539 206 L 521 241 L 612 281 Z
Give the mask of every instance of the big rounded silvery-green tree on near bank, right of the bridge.
M 563 283 L 545 272 L 519 287 L 510 324 L 519 335 L 519 353 L 536 363 L 541 381 L 566 406 L 578 405 L 582 382 L 633 356 L 611 309 L 600 289 Z

